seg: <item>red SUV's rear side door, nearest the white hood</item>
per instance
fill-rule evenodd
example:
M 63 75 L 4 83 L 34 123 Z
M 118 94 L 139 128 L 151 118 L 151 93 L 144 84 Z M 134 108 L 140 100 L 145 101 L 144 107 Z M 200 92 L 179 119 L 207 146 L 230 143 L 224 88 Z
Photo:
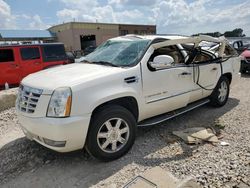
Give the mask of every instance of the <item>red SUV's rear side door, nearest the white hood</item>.
M 42 70 L 42 57 L 39 46 L 25 46 L 19 48 L 22 77 Z

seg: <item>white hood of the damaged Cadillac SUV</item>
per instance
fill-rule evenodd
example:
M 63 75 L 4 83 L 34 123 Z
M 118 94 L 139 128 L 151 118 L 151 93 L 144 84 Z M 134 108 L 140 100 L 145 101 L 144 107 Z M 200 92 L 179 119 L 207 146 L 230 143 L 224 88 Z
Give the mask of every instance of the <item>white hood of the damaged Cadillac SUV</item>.
M 122 71 L 123 69 L 120 67 L 74 63 L 30 74 L 22 80 L 22 84 L 43 89 L 44 94 L 51 94 L 54 89 L 59 87 L 73 87 Z

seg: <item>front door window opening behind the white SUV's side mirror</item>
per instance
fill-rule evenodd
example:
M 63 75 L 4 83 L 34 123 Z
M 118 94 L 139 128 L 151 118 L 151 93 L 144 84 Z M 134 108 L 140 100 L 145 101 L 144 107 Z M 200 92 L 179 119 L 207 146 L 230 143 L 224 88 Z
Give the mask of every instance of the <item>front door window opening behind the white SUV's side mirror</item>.
M 175 64 L 184 63 L 184 57 L 181 54 L 179 48 L 177 46 L 165 46 L 159 49 L 156 49 L 154 53 L 150 57 L 150 61 L 153 61 L 153 59 L 158 55 L 169 55 L 174 59 Z

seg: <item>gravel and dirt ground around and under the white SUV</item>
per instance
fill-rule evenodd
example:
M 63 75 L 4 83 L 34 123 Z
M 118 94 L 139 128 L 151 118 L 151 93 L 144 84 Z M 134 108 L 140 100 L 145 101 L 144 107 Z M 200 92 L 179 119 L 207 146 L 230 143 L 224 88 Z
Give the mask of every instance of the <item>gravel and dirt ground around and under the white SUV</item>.
M 250 76 L 233 82 L 222 108 L 203 106 L 162 125 L 138 130 L 132 150 L 102 163 L 85 151 L 60 154 L 23 137 L 15 110 L 0 113 L 1 187 L 121 187 L 146 169 L 161 166 L 192 176 L 203 187 L 250 187 Z M 217 127 L 229 146 L 186 145 L 171 134 L 187 127 Z

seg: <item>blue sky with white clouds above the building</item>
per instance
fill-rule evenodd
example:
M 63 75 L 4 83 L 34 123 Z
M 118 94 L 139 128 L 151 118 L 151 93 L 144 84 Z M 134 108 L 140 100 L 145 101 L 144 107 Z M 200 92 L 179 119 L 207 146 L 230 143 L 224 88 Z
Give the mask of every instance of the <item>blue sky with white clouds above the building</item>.
M 250 0 L 0 0 L 0 29 L 47 29 L 70 21 L 153 24 L 158 34 L 250 36 Z

